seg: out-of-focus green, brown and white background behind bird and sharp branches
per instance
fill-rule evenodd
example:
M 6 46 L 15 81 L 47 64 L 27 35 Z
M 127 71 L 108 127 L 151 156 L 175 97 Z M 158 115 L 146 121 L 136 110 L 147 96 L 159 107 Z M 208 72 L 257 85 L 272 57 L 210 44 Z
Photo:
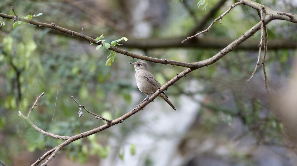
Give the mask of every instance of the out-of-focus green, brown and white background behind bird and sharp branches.
M 297 14 L 296 0 L 256 2 Z M 81 32 L 83 27 L 84 35 L 97 38 L 104 34 L 106 42 L 126 37 L 128 40 L 119 48 L 183 62 L 214 56 L 259 22 L 255 9 L 236 6 L 222 19 L 221 25 L 217 22 L 209 32 L 181 44 L 187 36 L 206 29 L 236 1 L 211 0 L 206 10 L 203 7 L 207 1 L 199 8 L 197 3 L 198 0 L 177 3 L 2 0 L 0 12 L 14 15 L 14 4 L 18 16 L 42 12 L 33 19 L 75 32 Z M 0 27 L 2 162 L 31 165 L 63 142 L 42 135 L 18 116 L 18 111 L 27 115 L 42 92 L 45 96 L 33 110 L 31 120 L 44 131 L 63 136 L 73 136 L 105 123 L 86 112 L 78 117 L 78 105 L 69 95 L 91 112 L 109 119 L 124 115 L 146 97 L 137 88 L 135 70 L 128 63 L 137 59 L 117 53 L 111 66 L 105 66 L 110 51 L 95 50 L 96 44 L 49 28 L 30 24 L 12 28 L 12 20 L 3 22 L 6 25 Z M 286 127 L 279 101 L 296 103 L 295 98 L 287 99 L 282 92 L 294 92 L 288 83 L 296 72 L 292 68 L 297 25 L 277 20 L 267 27 L 266 72 L 271 98 L 264 88 L 261 65 L 247 82 L 257 63 L 261 35 L 257 32 L 216 63 L 191 72 L 169 87 L 166 94 L 177 111 L 157 98 L 124 123 L 69 144 L 50 165 L 296 165 L 292 139 L 296 133 Z M 162 85 L 185 69 L 147 63 Z M 295 108 L 292 106 L 293 112 Z

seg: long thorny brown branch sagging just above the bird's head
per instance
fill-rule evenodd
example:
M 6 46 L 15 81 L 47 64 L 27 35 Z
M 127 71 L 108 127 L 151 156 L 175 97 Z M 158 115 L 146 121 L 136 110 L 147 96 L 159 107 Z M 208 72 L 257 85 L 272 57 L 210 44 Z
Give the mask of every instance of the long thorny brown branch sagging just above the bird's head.
M 260 5 L 260 4 L 256 3 L 256 2 L 252 2 L 252 1 L 249 1 L 249 0 L 242 0 L 242 1 L 244 2 L 244 4 L 249 4 L 250 6 L 253 6 L 255 4 L 258 5 L 258 6 Z M 251 3 L 247 3 L 247 2 L 251 2 Z M 263 6 L 263 5 L 260 5 L 260 6 Z M 253 6 L 253 7 L 255 7 L 255 6 Z M 291 19 L 290 17 L 287 17 L 285 15 L 276 14 L 277 13 L 276 11 L 269 9 L 266 6 L 263 9 L 263 12 L 266 12 L 266 15 L 269 16 L 269 17 L 266 17 L 264 19 L 264 21 L 263 21 L 264 25 L 268 24 L 273 19 L 283 19 L 283 20 L 287 20 L 287 21 L 291 21 L 291 22 L 296 21 L 296 23 L 297 23 L 297 17 L 296 18 L 293 17 L 293 19 Z M 294 15 L 294 16 L 296 16 L 296 15 Z M 15 18 L 15 16 L 8 15 L 8 14 L 3 14 L 3 13 L 0 13 L 0 17 L 8 18 L 8 19 L 14 19 Z M 52 29 L 58 30 L 60 32 L 64 32 L 66 34 L 70 34 L 72 36 L 83 38 L 85 40 L 88 40 L 89 42 L 93 42 L 93 43 L 97 42 L 97 40 L 95 40 L 94 38 L 91 38 L 91 37 L 86 36 L 86 35 L 81 35 L 81 33 L 79 33 L 79 32 L 74 32 L 74 31 L 68 30 L 66 28 L 56 26 L 54 23 L 47 24 L 47 23 L 37 22 L 37 21 L 34 21 L 32 19 L 24 19 L 24 18 L 19 18 L 19 21 L 27 22 L 27 23 L 30 23 L 32 25 L 37 25 L 38 27 L 52 28 Z M 261 25 L 261 22 L 260 22 L 260 25 Z M 160 64 L 171 64 L 171 65 L 176 65 L 176 66 L 183 66 L 183 67 L 198 69 L 200 67 L 208 66 L 210 64 L 213 64 L 219 58 L 222 58 L 223 56 L 225 56 L 230 51 L 233 51 L 238 45 L 240 45 L 242 42 L 244 42 L 245 40 L 250 38 L 258 30 L 260 30 L 259 23 L 256 24 L 254 27 L 252 27 L 250 30 L 248 30 L 246 33 L 244 33 L 244 35 L 242 35 L 238 39 L 234 40 L 227 47 L 222 49 L 222 51 L 220 51 L 220 53 L 218 53 L 217 55 L 215 55 L 212 58 L 209 58 L 207 60 L 203 60 L 203 61 L 199 61 L 199 62 L 193 62 L 193 63 L 186 63 L 186 62 L 173 61 L 173 60 L 167 60 L 167 59 L 152 58 L 152 57 L 148 57 L 148 56 L 144 56 L 144 55 L 138 55 L 138 54 L 135 54 L 135 53 L 131 53 L 131 52 L 127 51 L 127 50 L 123 50 L 123 49 L 113 47 L 113 46 L 110 46 L 109 49 L 113 50 L 113 51 L 115 51 L 117 53 L 121 53 L 121 54 L 124 54 L 126 56 L 130 56 L 132 58 L 137 58 L 137 59 L 142 59 L 142 60 L 145 60 L 145 61 L 150 61 L 150 62 L 155 62 L 155 63 L 160 63 Z M 96 44 L 102 44 L 102 43 L 99 42 L 99 43 L 96 43 Z

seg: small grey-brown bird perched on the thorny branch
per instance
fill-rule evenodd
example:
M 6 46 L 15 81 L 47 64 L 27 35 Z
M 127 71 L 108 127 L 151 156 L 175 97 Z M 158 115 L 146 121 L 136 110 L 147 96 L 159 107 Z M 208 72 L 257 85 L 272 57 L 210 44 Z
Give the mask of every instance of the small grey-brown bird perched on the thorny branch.
M 146 98 L 143 100 L 147 100 L 154 92 L 156 92 L 159 88 L 161 88 L 161 84 L 157 81 L 157 79 L 151 74 L 149 71 L 148 65 L 143 61 L 137 61 L 135 63 L 129 62 L 129 64 L 134 65 L 135 68 L 135 78 L 138 89 L 146 94 Z M 162 92 L 159 97 L 165 100 L 174 110 L 176 108 L 172 104 L 172 102 L 168 99 L 168 96 Z M 142 101 L 142 102 L 143 102 Z M 142 103 L 141 102 L 141 103 Z

